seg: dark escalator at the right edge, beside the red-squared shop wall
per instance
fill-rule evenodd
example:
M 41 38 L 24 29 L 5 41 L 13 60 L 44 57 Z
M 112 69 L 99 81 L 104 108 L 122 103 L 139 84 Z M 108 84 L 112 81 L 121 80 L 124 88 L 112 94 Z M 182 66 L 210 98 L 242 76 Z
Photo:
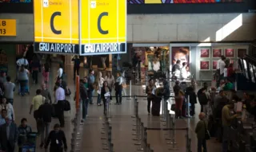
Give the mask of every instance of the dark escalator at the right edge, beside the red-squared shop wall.
M 237 90 L 256 91 L 256 41 L 249 46 L 248 55 L 238 59 L 241 72 L 236 75 Z

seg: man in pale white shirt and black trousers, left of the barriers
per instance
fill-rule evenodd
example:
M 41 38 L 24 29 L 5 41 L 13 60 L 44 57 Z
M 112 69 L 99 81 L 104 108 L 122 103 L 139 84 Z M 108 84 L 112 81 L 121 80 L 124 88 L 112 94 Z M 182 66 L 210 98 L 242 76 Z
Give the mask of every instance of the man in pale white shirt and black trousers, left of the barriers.
M 56 91 L 55 91 L 55 102 L 54 102 L 54 109 L 56 115 L 58 116 L 59 123 L 61 127 L 64 127 L 64 106 L 63 103 L 65 101 L 65 90 L 60 87 L 60 84 L 56 84 Z

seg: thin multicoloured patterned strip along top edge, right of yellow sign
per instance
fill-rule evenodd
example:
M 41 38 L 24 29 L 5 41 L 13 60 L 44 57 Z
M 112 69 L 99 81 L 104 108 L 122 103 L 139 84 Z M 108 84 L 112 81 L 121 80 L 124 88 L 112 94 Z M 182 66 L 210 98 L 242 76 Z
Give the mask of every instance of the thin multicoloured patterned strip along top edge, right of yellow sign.
M 222 3 L 244 2 L 244 0 L 127 0 L 128 4 L 180 4 L 180 3 Z

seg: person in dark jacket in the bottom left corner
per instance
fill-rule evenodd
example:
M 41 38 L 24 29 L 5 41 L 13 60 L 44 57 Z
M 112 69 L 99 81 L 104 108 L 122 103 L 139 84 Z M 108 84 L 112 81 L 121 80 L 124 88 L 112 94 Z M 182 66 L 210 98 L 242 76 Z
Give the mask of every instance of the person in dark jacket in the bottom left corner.
M 6 123 L 0 126 L 0 150 L 14 152 L 18 142 L 18 127 L 16 123 L 6 117 Z

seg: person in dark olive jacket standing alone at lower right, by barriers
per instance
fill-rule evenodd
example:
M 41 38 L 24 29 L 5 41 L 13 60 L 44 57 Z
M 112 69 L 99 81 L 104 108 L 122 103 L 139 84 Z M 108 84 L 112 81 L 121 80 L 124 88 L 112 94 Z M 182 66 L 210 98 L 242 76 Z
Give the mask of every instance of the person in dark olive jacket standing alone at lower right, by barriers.
M 208 123 L 206 122 L 206 115 L 205 113 L 201 112 L 198 115 L 200 121 L 197 123 L 197 126 L 195 127 L 195 133 L 197 134 L 198 137 L 198 152 L 207 152 L 207 146 L 206 146 L 206 131 L 207 131 L 207 126 Z

